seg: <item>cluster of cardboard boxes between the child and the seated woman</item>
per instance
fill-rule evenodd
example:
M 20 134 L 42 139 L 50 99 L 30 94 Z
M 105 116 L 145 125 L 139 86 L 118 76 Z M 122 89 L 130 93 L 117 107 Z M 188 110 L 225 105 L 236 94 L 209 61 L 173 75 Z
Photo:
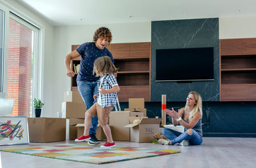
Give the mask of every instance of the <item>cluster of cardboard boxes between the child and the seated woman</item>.
M 110 113 L 113 140 L 137 143 L 153 141 L 162 118 L 147 118 L 144 104 L 143 98 L 129 99 L 129 108 L 125 108 L 125 111 Z

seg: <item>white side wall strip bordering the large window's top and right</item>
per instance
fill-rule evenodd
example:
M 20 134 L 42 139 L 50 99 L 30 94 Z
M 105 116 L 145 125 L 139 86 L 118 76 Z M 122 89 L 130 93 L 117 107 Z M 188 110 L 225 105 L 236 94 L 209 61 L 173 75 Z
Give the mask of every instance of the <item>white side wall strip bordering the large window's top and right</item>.
M 54 90 L 52 87 L 52 81 L 54 76 L 52 76 L 52 71 L 54 67 L 54 62 L 52 62 L 54 54 L 54 27 L 49 24 L 44 18 L 35 14 L 35 12 L 29 10 L 25 6 L 22 6 L 19 2 L 15 0 L 1 0 L 6 3 L 8 6 L 13 8 L 15 11 L 22 13 L 24 17 L 29 18 L 36 24 L 40 25 L 44 30 L 43 34 L 43 78 L 44 83 L 42 85 L 43 93 L 42 93 L 42 101 L 45 102 L 45 106 L 42 109 L 42 116 L 52 116 L 52 108 L 54 106 L 54 101 L 52 95 L 54 94 Z

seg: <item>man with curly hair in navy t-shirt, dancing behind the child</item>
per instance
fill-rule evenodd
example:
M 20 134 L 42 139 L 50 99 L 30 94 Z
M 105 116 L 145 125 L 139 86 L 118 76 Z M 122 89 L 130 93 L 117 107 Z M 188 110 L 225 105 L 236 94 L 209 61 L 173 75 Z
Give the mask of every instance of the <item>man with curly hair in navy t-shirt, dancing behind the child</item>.
M 97 80 L 93 74 L 93 63 L 96 59 L 103 56 L 108 56 L 114 63 L 111 52 L 106 48 L 112 40 L 111 31 L 107 27 L 100 27 L 93 36 L 93 41 L 83 43 L 78 46 L 76 50 L 69 53 L 65 58 L 65 66 L 67 69 L 67 76 L 74 77 L 75 73 L 70 68 L 70 62 L 73 59 L 81 56 L 81 63 L 79 73 L 77 74 L 76 82 L 77 88 L 81 97 L 83 98 L 86 108 L 90 109 L 93 105 L 93 95 L 97 94 Z M 92 117 L 92 125 L 90 127 L 90 141 L 89 144 L 99 144 L 100 141 L 96 138 L 96 129 L 98 125 L 98 117 Z M 76 139 L 75 141 L 86 141 L 85 139 Z

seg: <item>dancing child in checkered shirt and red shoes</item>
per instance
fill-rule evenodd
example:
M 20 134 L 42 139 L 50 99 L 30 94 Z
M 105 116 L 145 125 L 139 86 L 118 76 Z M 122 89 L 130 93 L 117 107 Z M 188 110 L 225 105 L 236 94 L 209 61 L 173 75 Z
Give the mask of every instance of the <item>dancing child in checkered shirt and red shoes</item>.
M 108 56 L 99 57 L 95 60 L 93 73 L 95 73 L 96 76 L 100 76 L 100 79 L 97 82 L 97 86 L 99 88 L 98 94 L 93 95 L 93 99 L 97 99 L 97 102 L 95 102 L 93 106 L 86 111 L 84 119 L 84 134 L 76 139 L 76 142 L 90 141 L 91 137 L 89 135 L 89 129 L 92 123 L 92 116 L 97 115 L 99 123 L 108 139 L 108 141 L 100 147 L 111 148 L 115 146 L 115 142 L 111 135 L 111 129 L 108 126 L 108 117 L 112 109 L 116 106 L 116 92 L 119 92 L 120 90 L 116 77 L 113 75 L 117 70 L 118 69 L 114 66 Z

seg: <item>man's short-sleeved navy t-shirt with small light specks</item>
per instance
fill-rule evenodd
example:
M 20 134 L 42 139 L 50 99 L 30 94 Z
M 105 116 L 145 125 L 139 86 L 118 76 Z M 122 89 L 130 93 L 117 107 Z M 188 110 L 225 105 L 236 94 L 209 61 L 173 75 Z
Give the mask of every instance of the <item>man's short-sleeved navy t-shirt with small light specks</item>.
M 76 48 L 76 51 L 81 55 L 81 63 L 77 81 L 97 81 L 99 78 L 93 74 L 93 64 L 96 59 L 103 56 L 109 56 L 114 63 L 111 52 L 105 47 L 103 50 L 97 48 L 95 43 L 83 43 Z

